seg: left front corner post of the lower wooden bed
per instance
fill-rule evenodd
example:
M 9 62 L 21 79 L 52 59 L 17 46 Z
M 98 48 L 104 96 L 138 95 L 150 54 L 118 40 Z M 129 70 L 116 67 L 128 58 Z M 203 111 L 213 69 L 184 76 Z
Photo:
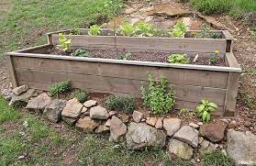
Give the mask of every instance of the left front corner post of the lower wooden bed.
M 18 86 L 17 75 L 14 68 L 13 57 L 9 54 L 6 54 L 6 65 L 7 65 L 7 70 L 9 72 L 9 78 L 11 80 L 12 86 L 13 88 L 15 88 Z

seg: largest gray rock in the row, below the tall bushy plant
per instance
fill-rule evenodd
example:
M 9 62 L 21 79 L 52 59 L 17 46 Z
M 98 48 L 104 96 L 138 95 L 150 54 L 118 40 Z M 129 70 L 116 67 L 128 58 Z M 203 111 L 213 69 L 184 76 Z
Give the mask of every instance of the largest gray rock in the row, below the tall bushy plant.
M 131 122 L 126 135 L 128 149 L 142 147 L 163 147 L 166 135 L 162 130 L 150 127 L 144 123 Z

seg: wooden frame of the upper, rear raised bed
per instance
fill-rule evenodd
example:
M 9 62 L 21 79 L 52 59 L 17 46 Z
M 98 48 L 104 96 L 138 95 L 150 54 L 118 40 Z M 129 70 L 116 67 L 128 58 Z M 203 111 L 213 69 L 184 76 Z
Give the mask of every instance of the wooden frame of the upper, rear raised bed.
M 64 32 L 67 39 L 72 39 L 72 48 L 98 48 L 119 50 L 152 50 L 152 51 L 182 51 L 214 53 L 220 51 L 224 56 L 232 50 L 233 37 L 228 30 L 211 31 L 222 39 L 195 39 L 191 34 L 198 31 L 188 31 L 185 38 L 160 38 L 160 37 L 123 37 L 115 36 L 113 30 L 104 29 L 102 36 L 89 36 L 88 28 L 79 29 L 80 35 L 68 35 L 70 30 L 51 32 L 48 34 L 49 44 L 57 45 L 59 33 Z

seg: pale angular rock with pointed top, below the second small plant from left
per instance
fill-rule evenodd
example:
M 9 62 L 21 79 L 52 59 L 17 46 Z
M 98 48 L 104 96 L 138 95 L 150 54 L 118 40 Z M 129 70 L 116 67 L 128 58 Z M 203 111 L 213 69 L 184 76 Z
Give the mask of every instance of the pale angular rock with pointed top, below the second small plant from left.
M 76 99 L 69 100 L 61 112 L 61 116 L 77 119 L 82 111 L 83 105 Z

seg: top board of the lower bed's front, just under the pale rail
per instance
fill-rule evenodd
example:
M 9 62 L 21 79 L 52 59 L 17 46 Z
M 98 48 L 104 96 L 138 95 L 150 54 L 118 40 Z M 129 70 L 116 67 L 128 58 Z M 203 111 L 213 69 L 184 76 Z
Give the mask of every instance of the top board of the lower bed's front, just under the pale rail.
M 199 71 L 189 69 L 161 68 L 128 64 L 115 64 L 90 61 L 68 61 L 13 57 L 14 66 L 18 69 L 39 71 L 82 73 L 96 76 L 126 78 L 146 81 L 147 73 L 156 76 L 164 75 L 170 83 L 226 89 L 228 72 Z

